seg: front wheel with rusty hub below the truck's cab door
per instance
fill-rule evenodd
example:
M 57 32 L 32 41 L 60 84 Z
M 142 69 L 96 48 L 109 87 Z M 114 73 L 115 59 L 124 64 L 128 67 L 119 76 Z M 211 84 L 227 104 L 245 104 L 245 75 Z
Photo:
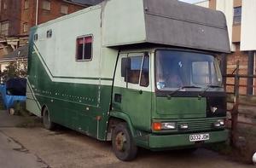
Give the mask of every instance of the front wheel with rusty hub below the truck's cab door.
M 137 146 L 131 136 L 131 131 L 125 123 L 119 123 L 113 129 L 112 148 L 116 157 L 123 161 L 130 161 L 137 156 Z

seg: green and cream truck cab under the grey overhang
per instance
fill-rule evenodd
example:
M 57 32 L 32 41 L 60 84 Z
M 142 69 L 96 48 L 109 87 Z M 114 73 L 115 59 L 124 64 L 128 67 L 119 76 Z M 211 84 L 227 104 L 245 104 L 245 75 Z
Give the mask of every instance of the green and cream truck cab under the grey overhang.
M 129 120 L 131 138 L 113 130 L 119 159 L 127 154 L 128 139 L 151 150 L 226 141 L 226 94 L 217 54 L 180 48 L 121 51 L 110 115 Z

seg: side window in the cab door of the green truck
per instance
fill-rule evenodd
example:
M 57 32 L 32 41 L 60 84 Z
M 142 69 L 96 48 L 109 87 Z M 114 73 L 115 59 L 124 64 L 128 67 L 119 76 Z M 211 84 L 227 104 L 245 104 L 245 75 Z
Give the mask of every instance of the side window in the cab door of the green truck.
M 122 74 L 125 82 L 131 84 L 140 84 L 147 87 L 149 84 L 149 56 L 130 56 L 122 58 Z

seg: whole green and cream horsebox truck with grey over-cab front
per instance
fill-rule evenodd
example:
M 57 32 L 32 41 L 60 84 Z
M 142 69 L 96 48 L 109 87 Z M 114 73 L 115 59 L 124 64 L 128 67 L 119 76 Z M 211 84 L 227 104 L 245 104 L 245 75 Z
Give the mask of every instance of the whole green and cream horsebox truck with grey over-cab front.
M 121 160 L 138 147 L 226 141 L 223 13 L 177 0 L 108 0 L 32 27 L 29 40 L 26 108 L 46 129 L 111 141 Z

